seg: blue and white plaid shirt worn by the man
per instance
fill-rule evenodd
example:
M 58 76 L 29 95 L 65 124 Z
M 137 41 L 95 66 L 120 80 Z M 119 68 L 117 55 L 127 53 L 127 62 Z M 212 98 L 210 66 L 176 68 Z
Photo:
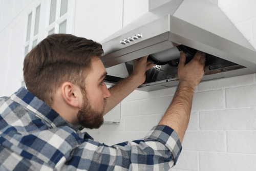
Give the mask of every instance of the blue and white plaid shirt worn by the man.
M 168 170 L 181 152 L 165 125 L 140 140 L 96 142 L 25 88 L 0 99 L 0 114 L 0 170 Z

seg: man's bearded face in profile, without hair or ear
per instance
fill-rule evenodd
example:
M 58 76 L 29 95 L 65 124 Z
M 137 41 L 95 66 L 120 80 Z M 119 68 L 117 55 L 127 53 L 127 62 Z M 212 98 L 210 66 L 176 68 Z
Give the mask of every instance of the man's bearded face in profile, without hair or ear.
M 83 102 L 81 108 L 78 109 L 77 124 L 88 129 L 98 129 L 103 124 L 106 99 L 111 96 L 103 81 L 106 75 L 102 61 L 99 58 L 92 61 L 91 70 L 80 86 Z

